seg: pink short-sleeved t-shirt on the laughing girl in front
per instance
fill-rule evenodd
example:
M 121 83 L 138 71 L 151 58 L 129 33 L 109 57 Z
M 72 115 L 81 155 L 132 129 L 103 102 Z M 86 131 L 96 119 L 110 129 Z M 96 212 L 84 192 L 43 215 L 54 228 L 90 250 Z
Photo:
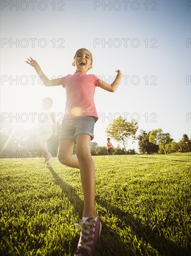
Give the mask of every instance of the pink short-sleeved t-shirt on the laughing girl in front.
M 62 79 L 62 86 L 66 89 L 66 107 L 64 119 L 82 116 L 98 115 L 94 103 L 94 94 L 100 79 L 94 74 L 75 72 Z

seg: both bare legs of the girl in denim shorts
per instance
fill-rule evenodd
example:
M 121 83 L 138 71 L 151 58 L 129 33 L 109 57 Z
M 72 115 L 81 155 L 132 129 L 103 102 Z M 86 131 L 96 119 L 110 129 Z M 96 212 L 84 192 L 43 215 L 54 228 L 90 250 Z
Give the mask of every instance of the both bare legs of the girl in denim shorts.
M 83 188 L 84 209 L 83 217 L 96 217 L 95 209 L 95 165 L 90 153 L 90 136 L 80 134 L 76 136 L 76 155 L 73 155 L 74 141 L 60 140 L 58 160 L 67 166 L 80 168 Z

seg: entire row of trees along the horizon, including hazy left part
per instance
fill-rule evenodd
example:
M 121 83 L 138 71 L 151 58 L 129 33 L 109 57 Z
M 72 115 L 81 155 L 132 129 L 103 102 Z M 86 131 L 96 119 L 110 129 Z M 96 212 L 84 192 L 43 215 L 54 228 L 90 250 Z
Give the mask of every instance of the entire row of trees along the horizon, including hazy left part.
M 61 125 L 57 123 L 58 135 L 52 136 L 48 140 L 48 147 L 52 156 L 57 156 Z M 184 134 L 182 138 L 175 142 L 169 133 L 164 133 L 161 128 L 151 131 L 140 130 L 136 135 L 138 122 L 132 120 L 128 122 L 125 118 L 118 117 L 106 127 L 106 134 L 113 140 L 119 142 L 114 149 L 115 155 L 134 155 L 134 154 L 170 154 L 173 152 L 190 152 L 191 139 Z M 11 123 L 2 123 L 0 129 L 0 150 L 1 157 L 26 157 L 39 156 L 40 149 L 36 145 L 37 131 L 34 128 L 26 129 L 22 126 L 14 127 Z M 128 149 L 128 141 L 138 140 L 139 152 L 135 149 Z M 107 155 L 107 147 L 92 146 L 92 155 Z M 75 148 L 74 148 L 75 154 Z

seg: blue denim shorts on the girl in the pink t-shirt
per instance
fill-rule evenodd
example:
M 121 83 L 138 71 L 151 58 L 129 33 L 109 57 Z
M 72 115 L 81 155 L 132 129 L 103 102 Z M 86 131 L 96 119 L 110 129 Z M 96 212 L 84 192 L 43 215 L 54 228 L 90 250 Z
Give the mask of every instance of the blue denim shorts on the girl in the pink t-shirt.
M 72 119 L 64 119 L 61 125 L 59 140 L 67 139 L 76 142 L 79 134 L 88 134 L 91 141 L 94 138 L 94 116 L 82 116 Z

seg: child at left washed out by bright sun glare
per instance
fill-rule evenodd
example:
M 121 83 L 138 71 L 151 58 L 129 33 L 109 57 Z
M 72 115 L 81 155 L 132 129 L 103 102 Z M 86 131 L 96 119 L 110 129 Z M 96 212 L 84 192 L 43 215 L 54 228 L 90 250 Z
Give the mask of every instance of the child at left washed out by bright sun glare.
M 53 113 L 50 112 L 52 107 L 51 98 L 45 98 L 42 102 L 43 111 L 38 115 L 38 138 L 36 140 L 37 145 L 45 153 L 45 168 L 51 168 L 51 153 L 48 151 L 47 140 L 51 138 L 54 132 L 54 136 L 57 136 L 57 124 L 53 118 Z M 52 132 L 53 128 L 53 132 Z

